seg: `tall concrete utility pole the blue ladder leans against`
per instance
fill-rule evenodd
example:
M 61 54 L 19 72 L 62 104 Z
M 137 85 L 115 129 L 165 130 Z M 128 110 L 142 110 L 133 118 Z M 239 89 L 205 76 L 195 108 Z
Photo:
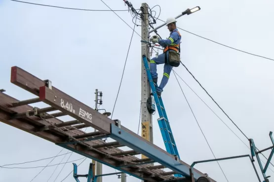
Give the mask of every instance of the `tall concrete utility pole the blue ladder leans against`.
M 149 14 L 148 14 L 148 4 L 142 3 L 142 40 L 149 41 Z M 150 59 L 149 47 L 147 43 L 142 42 L 142 51 L 141 51 L 141 118 L 142 118 L 142 137 L 153 143 L 153 127 L 152 127 L 152 114 L 149 113 L 147 108 L 147 100 L 150 97 L 151 87 L 148 82 L 146 68 L 143 63 L 142 56 L 145 54 L 148 59 Z M 150 62 L 149 62 L 150 65 Z M 142 155 L 142 158 L 146 158 L 145 155 Z

